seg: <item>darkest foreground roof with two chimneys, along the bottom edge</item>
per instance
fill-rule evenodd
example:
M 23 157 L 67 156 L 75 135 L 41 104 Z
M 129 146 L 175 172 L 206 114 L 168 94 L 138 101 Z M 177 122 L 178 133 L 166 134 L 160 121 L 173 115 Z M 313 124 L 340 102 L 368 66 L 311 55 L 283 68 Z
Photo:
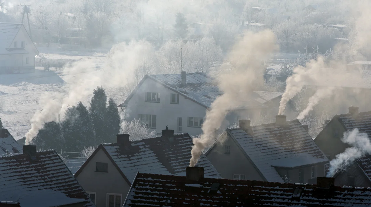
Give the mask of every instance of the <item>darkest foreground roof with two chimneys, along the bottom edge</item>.
M 140 173 L 123 207 L 134 206 L 371 206 L 371 189 L 334 186 L 319 177 L 317 185 L 227 180 L 203 177 L 202 168 L 187 168 L 186 176 Z

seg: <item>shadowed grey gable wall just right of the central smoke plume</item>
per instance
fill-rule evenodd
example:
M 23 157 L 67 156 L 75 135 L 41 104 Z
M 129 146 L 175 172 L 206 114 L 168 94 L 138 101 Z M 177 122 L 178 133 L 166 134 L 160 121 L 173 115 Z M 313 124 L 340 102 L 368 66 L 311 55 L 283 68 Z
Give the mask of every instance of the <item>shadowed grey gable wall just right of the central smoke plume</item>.
M 230 146 L 230 154 L 225 154 L 225 146 Z M 246 180 L 264 181 L 236 142 L 226 135 L 218 139 L 216 145 L 206 155 L 222 178 L 233 179 L 234 174 L 245 175 Z

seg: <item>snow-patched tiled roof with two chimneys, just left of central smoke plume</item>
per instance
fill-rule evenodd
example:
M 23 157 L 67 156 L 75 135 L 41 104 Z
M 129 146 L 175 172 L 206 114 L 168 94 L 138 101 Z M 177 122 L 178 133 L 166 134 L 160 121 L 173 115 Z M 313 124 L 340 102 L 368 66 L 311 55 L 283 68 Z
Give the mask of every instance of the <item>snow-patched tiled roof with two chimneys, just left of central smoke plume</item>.
M 137 172 L 165 175 L 185 175 L 191 159 L 192 138 L 187 134 L 174 135 L 173 141 L 155 137 L 130 142 L 129 148 L 122 144 L 103 144 L 106 151 L 130 182 Z M 204 167 L 205 176 L 220 177 L 205 155 L 197 166 Z

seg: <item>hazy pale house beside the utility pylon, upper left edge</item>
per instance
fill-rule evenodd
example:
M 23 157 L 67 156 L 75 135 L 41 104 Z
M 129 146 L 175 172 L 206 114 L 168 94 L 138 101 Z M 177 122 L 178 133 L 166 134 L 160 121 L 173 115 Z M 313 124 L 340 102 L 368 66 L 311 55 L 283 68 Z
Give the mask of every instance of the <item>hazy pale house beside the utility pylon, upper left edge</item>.
M 23 24 L 0 23 L 0 73 L 35 72 L 39 51 Z

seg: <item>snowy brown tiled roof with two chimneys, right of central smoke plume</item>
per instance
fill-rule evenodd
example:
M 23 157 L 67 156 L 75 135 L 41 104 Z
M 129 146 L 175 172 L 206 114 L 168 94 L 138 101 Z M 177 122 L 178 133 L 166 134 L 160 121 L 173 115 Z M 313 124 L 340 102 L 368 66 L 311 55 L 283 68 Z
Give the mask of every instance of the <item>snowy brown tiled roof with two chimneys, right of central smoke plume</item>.
M 287 121 L 285 126 L 271 123 L 251 128 L 253 136 L 242 128 L 227 131 L 236 139 L 267 181 L 283 182 L 272 165 L 298 167 L 328 161 L 298 120 Z

